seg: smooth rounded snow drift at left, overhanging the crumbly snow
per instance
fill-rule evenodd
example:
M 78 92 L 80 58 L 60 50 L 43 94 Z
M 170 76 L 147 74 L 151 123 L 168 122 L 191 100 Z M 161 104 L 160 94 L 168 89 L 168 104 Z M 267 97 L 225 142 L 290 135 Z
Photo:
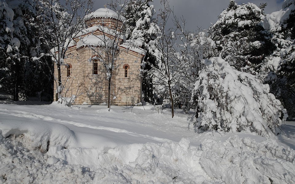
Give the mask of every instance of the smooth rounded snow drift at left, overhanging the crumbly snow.
M 60 145 L 68 148 L 77 144 L 75 133 L 65 125 L 45 121 L 26 121 L 20 123 L 19 119 L 6 119 L 1 115 L 0 135 L 3 137 L 24 135 L 32 142 L 31 148 L 48 151 L 50 146 Z M 19 117 L 18 117 L 19 118 Z

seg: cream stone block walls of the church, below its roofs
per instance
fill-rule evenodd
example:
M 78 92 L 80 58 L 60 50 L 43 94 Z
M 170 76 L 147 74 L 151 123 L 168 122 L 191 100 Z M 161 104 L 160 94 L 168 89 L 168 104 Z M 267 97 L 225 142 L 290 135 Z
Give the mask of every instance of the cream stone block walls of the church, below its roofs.
M 99 51 L 100 48 L 97 48 Z M 67 77 L 67 68 L 61 66 L 61 79 L 64 89 L 63 97 L 75 95 L 75 104 L 101 104 L 108 100 L 108 80 L 104 66 L 98 61 L 98 74 L 93 75 L 92 57 L 96 55 L 92 49 L 82 47 L 76 50 L 73 47 L 64 63 L 72 65 L 71 75 Z M 111 80 L 112 105 L 135 105 L 141 102 L 140 63 L 143 55 L 120 48 L 117 55 Z M 124 65 L 128 65 L 128 74 L 125 77 Z M 57 68 L 54 67 L 57 78 Z M 57 86 L 54 86 L 56 92 Z M 114 98 L 116 97 L 116 98 Z

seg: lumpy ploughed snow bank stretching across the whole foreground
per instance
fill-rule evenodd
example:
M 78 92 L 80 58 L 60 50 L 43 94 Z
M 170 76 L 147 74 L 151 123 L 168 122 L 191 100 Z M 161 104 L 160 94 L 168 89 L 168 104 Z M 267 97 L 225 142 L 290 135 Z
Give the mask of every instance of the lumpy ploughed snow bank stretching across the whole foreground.
M 183 138 L 113 149 L 28 148 L 25 136 L 0 135 L 0 177 L 6 183 L 295 183 L 295 151 L 274 140 Z M 90 166 L 89 166 L 90 164 Z

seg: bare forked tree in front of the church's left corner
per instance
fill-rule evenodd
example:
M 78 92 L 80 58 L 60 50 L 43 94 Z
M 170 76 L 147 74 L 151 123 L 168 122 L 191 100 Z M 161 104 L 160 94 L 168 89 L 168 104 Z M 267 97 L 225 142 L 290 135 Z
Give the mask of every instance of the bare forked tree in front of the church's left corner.
M 58 79 L 55 78 L 55 81 L 58 98 L 62 98 L 63 88 L 61 65 L 65 65 L 63 61 L 68 57 L 67 49 L 73 38 L 85 27 L 83 19 L 92 9 L 92 4 L 92 0 L 65 0 L 63 3 L 59 0 L 40 1 L 41 11 L 44 14 L 42 17 L 44 26 L 41 31 L 46 37 L 45 44 L 51 50 L 45 55 L 51 56 L 57 65 Z

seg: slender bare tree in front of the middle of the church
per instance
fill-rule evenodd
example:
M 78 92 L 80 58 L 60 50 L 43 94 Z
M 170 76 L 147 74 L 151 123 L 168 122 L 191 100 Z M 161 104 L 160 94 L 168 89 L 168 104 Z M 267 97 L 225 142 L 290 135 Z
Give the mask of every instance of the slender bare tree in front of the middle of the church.
M 103 66 L 102 72 L 105 73 L 108 80 L 108 109 L 111 107 L 111 85 L 112 85 L 112 75 L 114 70 L 120 67 L 120 58 L 118 57 L 119 45 L 123 43 L 123 38 L 125 35 L 124 24 L 125 18 L 122 16 L 124 11 L 124 6 L 126 1 L 116 1 L 111 2 L 109 6 L 116 11 L 116 15 L 112 16 L 112 23 L 108 24 L 107 19 L 109 19 L 110 13 L 114 13 L 112 10 L 106 11 L 106 15 L 100 21 L 98 25 L 98 32 L 91 33 L 81 40 L 85 45 L 92 49 L 95 58 L 98 59 Z M 96 45 L 93 43 L 88 43 L 88 40 L 96 40 Z

